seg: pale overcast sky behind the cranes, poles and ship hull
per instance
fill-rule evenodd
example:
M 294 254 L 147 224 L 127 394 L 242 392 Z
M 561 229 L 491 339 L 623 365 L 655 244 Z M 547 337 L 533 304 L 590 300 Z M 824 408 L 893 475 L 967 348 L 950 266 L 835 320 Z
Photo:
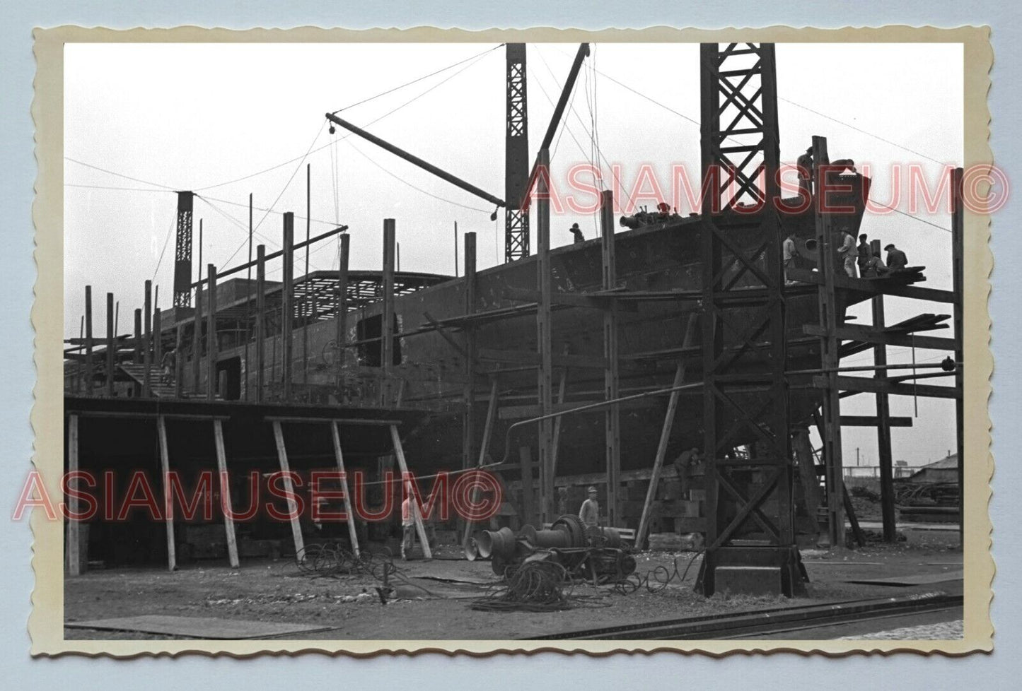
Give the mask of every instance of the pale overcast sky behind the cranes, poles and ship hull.
M 528 46 L 530 156 L 576 48 Z M 105 323 L 105 293 L 120 301 L 120 333 L 131 330 L 130 315 L 141 306 L 146 279 L 159 286 L 160 306 L 171 303 L 173 190 L 201 196 L 195 200 L 195 237 L 202 218 L 203 263 L 220 268 L 247 258 L 249 193 L 257 207 L 256 242 L 266 244 L 267 252 L 280 247 L 280 212 L 294 211 L 296 238 L 305 236 L 307 215 L 314 235 L 337 221 L 347 225 L 353 268 L 380 266 L 384 217 L 397 219 L 402 269 L 453 274 L 455 221 L 460 232 L 478 234 L 480 268 L 503 260 L 503 213 L 495 224 L 487 202 L 343 130 L 329 135 L 323 116 L 345 108 L 340 114 L 346 119 L 503 197 L 503 48 L 67 44 L 64 60 L 64 155 L 75 159 L 64 161 L 68 337 L 79 334 L 86 284 L 93 287 L 97 324 Z M 956 44 L 779 44 L 782 160 L 794 161 L 810 137 L 820 135 L 828 138 L 832 159 L 870 164 L 872 198 L 878 202 L 891 202 L 888 171 L 894 163 L 921 164 L 935 186 L 944 163 L 962 164 L 962 60 Z M 594 122 L 596 158 L 621 166 L 625 192 L 632 192 L 644 163 L 653 166 L 665 190 L 673 164 L 697 176 L 698 68 L 695 44 L 595 45 L 565 116 L 567 128 L 555 139 L 555 184 L 564 185 L 571 165 L 593 157 Z M 437 70 L 443 71 L 360 103 Z M 290 162 L 281 165 L 285 161 Z M 312 165 L 311 214 L 306 163 Z M 604 176 L 609 179 L 606 166 Z M 270 212 L 260 210 L 271 206 Z M 863 232 L 885 244 L 895 242 L 911 264 L 926 265 L 928 286 L 950 288 L 948 215 L 925 210 L 914 215 L 868 215 Z M 571 241 L 566 229 L 572 223 L 593 237 L 593 216 L 565 213 L 552 219 L 554 246 Z M 335 267 L 336 261 L 336 242 L 321 243 L 311 257 L 314 269 Z M 193 264 L 197 270 L 197 256 Z M 269 278 L 279 278 L 279 266 L 270 267 Z M 299 263 L 296 276 L 300 269 Z M 868 309 L 853 313 L 869 323 Z M 933 309 L 889 298 L 888 322 Z M 941 357 L 917 352 L 919 361 Z M 911 352 L 892 348 L 888 359 L 910 361 Z M 842 364 L 871 361 L 864 353 Z M 842 408 L 872 414 L 872 396 L 845 399 Z M 891 414 L 915 414 L 913 400 L 892 397 Z M 942 457 L 955 448 L 953 402 L 919 399 L 915 428 L 892 435 L 896 459 L 920 464 Z M 846 464 L 854 464 L 856 448 L 863 464 L 877 462 L 870 432 L 846 429 L 844 447 Z

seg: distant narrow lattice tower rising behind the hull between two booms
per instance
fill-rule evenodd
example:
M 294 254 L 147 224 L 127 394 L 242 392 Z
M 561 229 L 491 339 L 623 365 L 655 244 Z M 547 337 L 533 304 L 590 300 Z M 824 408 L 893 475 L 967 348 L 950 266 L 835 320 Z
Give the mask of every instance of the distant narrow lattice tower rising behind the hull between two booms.
M 525 44 L 507 44 L 507 119 L 504 139 L 504 260 L 528 256 L 528 211 L 522 196 L 528 185 L 528 98 Z

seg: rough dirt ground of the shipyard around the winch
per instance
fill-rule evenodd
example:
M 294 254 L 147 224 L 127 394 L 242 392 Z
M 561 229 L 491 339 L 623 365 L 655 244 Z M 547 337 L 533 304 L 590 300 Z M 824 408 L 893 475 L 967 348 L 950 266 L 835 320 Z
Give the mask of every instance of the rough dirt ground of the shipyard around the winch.
M 676 579 L 658 592 L 641 588 L 630 595 L 610 586 L 579 584 L 586 596 L 568 610 L 487 612 L 471 602 L 498 583 L 489 561 L 466 561 L 454 547 L 437 550 L 430 561 L 398 561 L 413 586 L 381 604 L 371 576 L 317 577 L 287 559 L 246 560 L 231 570 L 217 561 L 168 573 L 158 567 L 93 571 L 66 579 L 64 621 L 85 622 L 137 614 L 219 618 L 313 624 L 328 630 L 303 639 L 514 639 L 655 620 L 752 610 L 810 602 L 889 597 L 919 592 L 961 592 L 961 581 L 914 587 L 858 585 L 851 579 L 953 573 L 962 569 L 957 532 L 904 531 L 896 545 L 871 543 L 846 552 L 803 550 L 810 582 L 798 598 L 730 596 L 704 598 L 692 590 L 699 571 L 695 557 L 684 582 Z M 657 565 L 684 571 L 692 553 L 647 552 L 636 556 L 637 574 Z M 439 580 L 437 580 L 439 579 Z M 423 592 L 423 588 L 429 593 Z M 64 629 L 67 639 L 171 639 L 137 632 Z

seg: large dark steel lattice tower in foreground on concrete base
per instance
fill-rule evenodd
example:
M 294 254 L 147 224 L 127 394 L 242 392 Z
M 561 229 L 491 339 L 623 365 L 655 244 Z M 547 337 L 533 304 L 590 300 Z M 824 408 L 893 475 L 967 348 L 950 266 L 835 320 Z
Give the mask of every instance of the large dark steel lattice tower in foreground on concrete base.
M 713 187 L 701 229 L 706 553 L 696 588 L 791 596 L 804 590 L 804 572 L 794 538 L 774 45 L 709 43 L 699 54 L 703 180 Z M 759 537 L 740 539 L 746 530 Z

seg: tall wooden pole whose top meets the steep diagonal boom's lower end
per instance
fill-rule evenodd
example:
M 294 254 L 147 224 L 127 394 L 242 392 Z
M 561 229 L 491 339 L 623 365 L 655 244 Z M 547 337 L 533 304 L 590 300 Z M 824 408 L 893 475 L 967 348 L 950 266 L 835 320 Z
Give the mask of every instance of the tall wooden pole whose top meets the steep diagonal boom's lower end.
M 548 187 L 550 169 L 550 151 L 541 149 L 538 165 L 542 171 L 539 174 L 539 185 L 536 197 L 536 282 L 537 290 L 540 293 L 540 301 L 536 310 L 536 348 L 540 358 L 540 366 L 537 372 L 537 397 L 540 408 L 544 415 L 553 412 L 553 342 L 552 342 L 552 295 L 553 295 L 553 272 L 550 266 L 550 190 Z M 539 430 L 539 473 L 540 473 L 540 498 L 539 523 L 551 523 L 555 517 L 554 506 L 554 476 L 553 476 L 553 455 L 554 455 L 554 422 L 544 419 L 540 422 Z M 524 473 L 524 465 L 522 466 Z M 531 475 L 529 475 L 531 478 Z M 524 486 L 524 485 L 523 485 Z M 531 493 L 531 480 L 529 480 L 529 494 Z

